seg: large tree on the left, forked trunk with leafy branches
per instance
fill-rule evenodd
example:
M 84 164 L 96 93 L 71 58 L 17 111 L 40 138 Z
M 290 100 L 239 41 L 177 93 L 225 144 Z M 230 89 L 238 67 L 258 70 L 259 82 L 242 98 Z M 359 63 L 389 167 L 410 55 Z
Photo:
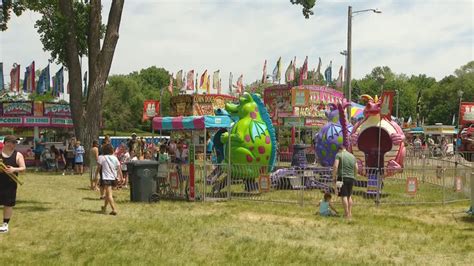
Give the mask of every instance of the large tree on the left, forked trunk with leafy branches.
M 68 69 L 70 105 L 76 136 L 86 148 L 98 139 L 102 117 L 102 98 L 109 76 L 115 47 L 119 39 L 119 26 L 124 0 L 113 0 L 107 24 L 102 24 L 100 0 L 24 0 L 3 1 L 0 28 L 7 30 L 13 11 L 20 15 L 32 10 L 42 16 L 35 27 L 40 34 L 44 50 L 51 59 Z M 88 57 L 88 94 L 82 94 L 81 58 Z

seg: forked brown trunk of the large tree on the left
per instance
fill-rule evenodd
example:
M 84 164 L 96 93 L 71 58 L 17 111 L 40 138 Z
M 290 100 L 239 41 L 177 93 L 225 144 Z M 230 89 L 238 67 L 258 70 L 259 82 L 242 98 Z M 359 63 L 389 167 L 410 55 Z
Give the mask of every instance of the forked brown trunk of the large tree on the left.
M 89 151 L 93 140 L 98 140 L 102 118 L 102 99 L 109 76 L 115 47 L 119 38 L 119 26 L 122 18 L 124 0 L 113 0 L 110 7 L 107 29 L 102 49 L 100 49 L 100 27 L 102 24 L 100 0 L 90 2 L 88 52 L 89 52 L 89 92 L 85 104 L 82 99 L 81 65 L 75 38 L 74 11 L 72 0 L 59 1 L 60 11 L 67 18 L 68 37 L 66 46 L 66 63 L 70 80 L 70 105 L 76 137 L 81 140 L 86 151 Z M 85 153 L 89 162 L 89 152 Z

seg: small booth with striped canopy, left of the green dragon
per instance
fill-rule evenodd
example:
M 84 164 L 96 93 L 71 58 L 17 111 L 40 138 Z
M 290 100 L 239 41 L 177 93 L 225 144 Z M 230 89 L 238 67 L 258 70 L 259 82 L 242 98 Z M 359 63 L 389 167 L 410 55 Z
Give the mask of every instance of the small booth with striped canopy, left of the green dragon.
M 153 130 L 161 131 L 189 131 L 191 140 L 194 136 L 205 138 L 207 131 L 226 129 L 230 130 L 232 120 L 229 116 L 179 116 L 153 118 Z M 188 143 L 188 160 L 183 163 L 160 163 L 157 175 L 156 197 L 170 199 L 204 200 L 206 191 L 205 178 L 207 177 L 208 162 L 198 150 L 205 152 L 202 144 L 191 141 Z M 230 142 L 229 144 L 230 145 Z M 199 159 L 198 159 L 199 158 Z M 185 185 L 183 189 L 183 185 Z

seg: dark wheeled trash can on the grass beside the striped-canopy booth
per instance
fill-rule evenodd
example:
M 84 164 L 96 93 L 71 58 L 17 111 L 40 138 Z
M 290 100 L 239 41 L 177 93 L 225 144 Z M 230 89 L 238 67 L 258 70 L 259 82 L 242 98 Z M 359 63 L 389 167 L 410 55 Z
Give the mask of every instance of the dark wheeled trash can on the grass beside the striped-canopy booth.
M 130 201 L 149 202 L 156 192 L 157 161 L 132 161 L 127 163 L 130 179 Z

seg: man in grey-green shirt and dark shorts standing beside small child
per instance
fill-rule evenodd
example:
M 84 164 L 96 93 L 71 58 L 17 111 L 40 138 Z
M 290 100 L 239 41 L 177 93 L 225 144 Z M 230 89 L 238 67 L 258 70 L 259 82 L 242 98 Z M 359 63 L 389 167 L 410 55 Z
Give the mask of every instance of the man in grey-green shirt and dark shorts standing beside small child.
M 342 181 L 340 197 L 344 206 L 344 217 L 352 218 L 352 188 L 358 172 L 357 161 L 352 153 L 346 150 L 344 145 L 339 147 L 334 161 L 332 177 L 337 187 L 337 181 Z

